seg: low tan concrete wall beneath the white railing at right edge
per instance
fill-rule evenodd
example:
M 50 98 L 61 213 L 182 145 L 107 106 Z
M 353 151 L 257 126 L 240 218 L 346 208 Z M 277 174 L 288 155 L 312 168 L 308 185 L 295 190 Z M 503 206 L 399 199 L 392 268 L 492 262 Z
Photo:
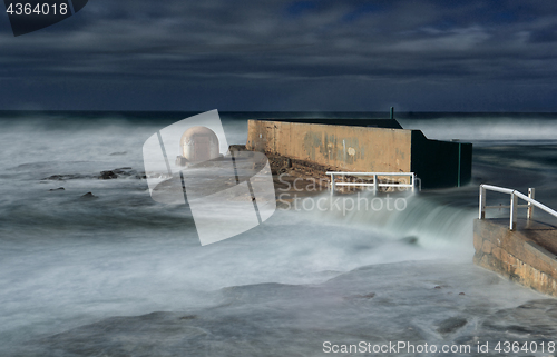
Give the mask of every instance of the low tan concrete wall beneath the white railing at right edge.
M 526 287 L 557 297 L 557 228 L 509 219 L 476 219 L 473 262 Z

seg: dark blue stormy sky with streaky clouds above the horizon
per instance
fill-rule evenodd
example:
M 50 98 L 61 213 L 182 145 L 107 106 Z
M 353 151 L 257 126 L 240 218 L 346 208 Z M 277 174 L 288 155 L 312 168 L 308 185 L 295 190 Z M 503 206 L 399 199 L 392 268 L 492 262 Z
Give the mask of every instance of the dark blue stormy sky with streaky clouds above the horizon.
M 0 109 L 390 106 L 557 111 L 557 1 L 90 0 L 17 38 L 0 14 Z

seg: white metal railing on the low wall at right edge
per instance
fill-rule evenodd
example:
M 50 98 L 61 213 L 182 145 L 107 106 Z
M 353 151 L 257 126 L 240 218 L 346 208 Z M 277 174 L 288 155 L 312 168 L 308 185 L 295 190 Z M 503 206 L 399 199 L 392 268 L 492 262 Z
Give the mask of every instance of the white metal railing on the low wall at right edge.
M 510 206 L 486 206 L 486 192 L 488 190 L 510 195 Z M 534 188 L 529 188 L 528 196 L 526 196 L 526 195 L 524 195 L 517 190 L 510 189 L 510 188 L 504 188 L 504 187 L 482 184 L 482 185 L 480 185 L 479 219 L 486 219 L 486 208 L 510 208 L 509 229 L 515 230 L 517 228 L 518 208 L 524 208 L 524 207 L 528 208 L 527 214 L 526 214 L 527 220 L 530 220 L 532 218 L 534 207 L 538 207 L 539 209 L 548 212 L 549 215 L 557 217 L 557 211 L 550 209 L 546 205 L 543 205 L 534 199 L 535 194 L 536 194 L 536 190 Z M 519 198 L 527 201 L 528 204 L 527 205 L 518 205 Z

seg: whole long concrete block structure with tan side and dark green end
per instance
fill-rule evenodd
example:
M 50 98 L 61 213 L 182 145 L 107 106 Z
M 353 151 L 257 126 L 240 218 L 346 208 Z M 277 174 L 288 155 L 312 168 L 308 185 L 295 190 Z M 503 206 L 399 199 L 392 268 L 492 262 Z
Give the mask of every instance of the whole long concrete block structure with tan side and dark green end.
M 430 140 L 390 119 L 250 120 L 246 148 L 330 170 L 414 172 L 422 188 L 459 187 L 471 179 L 472 145 Z

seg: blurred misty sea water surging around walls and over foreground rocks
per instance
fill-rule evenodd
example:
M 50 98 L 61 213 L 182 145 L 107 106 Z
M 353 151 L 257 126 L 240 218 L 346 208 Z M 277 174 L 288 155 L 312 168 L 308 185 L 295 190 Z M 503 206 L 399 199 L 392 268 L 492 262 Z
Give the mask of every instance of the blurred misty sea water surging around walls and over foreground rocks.
M 325 341 L 481 355 L 483 343 L 555 341 L 557 303 L 472 265 L 472 219 L 481 182 L 535 187 L 557 207 L 557 116 L 401 113 L 428 138 L 473 142 L 472 182 L 403 196 L 400 211 L 278 209 L 202 247 L 185 206 L 153 201 L 135 175 L 96 178 L 143 171 L 144 141 L 189 115 L 0 115 L 0 356 L 322 356 Z M 227 141 L 245 143 L 248 118 L 381 116 L 221 117 Z

